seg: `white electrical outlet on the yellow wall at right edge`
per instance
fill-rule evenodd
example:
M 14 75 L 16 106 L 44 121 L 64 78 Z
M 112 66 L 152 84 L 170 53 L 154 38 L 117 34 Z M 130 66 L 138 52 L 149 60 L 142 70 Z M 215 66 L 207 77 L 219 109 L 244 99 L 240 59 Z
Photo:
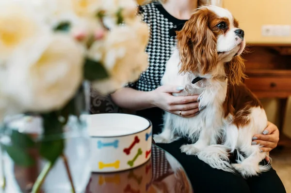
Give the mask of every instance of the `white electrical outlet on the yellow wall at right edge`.
M 290 25 L 263 25 L 262 36 L 286 37 L 291 35 Z

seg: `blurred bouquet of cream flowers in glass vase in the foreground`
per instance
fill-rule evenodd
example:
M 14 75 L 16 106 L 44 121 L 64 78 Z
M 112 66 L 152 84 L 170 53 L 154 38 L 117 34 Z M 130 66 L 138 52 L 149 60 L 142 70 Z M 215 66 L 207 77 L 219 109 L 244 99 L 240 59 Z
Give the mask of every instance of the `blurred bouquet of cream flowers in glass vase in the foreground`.
M 68 192 L 82 191 L 84 187 L 74 183 L 68 152 L 79 152 L 84 138 L 68 139 L 67 132 L 86 133 L 81 118 L 88 110 L 88 82 L 107 94 L 136 80 L 147 67 L 147 38 L 147 25 L 137 16 L 134 0 L 0 1 L 4 192 L 11 192 L 11 181 L 18 186 L 13 191 L 56 192 L 53 184 L 42 185 L 60 160 Z M 77 145 L 68 147 L 74 140 Z M 9 166 L 3 155 L 9 157 Z M 80 164 L 85 163 L 74 167 Z M 22 176 L 19 181 L 16 170 L 33 171 L 35 177 Z

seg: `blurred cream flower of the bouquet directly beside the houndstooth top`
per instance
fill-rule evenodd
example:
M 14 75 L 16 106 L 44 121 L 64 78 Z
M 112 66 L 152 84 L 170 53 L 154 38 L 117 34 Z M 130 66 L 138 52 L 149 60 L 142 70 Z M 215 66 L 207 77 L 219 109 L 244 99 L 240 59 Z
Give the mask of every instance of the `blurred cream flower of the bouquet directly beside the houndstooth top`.
M 103 41 L 96 41 L 89 57 L 100 60 L 110 78 L 94 83 L 102 93 L 112 92 L 128 82 L 133 82 L 147 68 L 147 25 L 136 18 L 132 25 L 113 28 Z

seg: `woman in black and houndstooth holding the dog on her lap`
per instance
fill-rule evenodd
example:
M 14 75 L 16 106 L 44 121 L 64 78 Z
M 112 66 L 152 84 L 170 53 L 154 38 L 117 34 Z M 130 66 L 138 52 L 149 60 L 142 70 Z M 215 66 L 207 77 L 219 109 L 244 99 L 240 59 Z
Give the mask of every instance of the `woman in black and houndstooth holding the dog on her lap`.
M 161 86 L 165 63 L 170 58 L 175 45 L 175 30 L 190 18 L 197 8 L 197 0 L 167 0 L 163 3 L 152 2 L 139 7 L 143 21 L 149 25 L 150 38 L 146 47 L 149 54 L 149 67 L 139 80 L 112 94 L 113 101 L 120 107 L 137 111 L 137 115 L 152 121 L 153 133 L 161 132 L 163 110 L 183 117 L 193 117 L 199 113 L 198 96 L 175 97 L 172 93 L 184 88 Z M 253 144 L 263 145 L 263 151 L 275 148 L 279 139 L 277 127 L 269 122 L 263 134 L 253 137 Z M 157 144 L 171 153 L 183 165 L 195 193 L 286 193 L 275 170 L 259 177 L 243 179 L 241 176 L 211 168 L 196 156 L 181 153 L 180 146 L 189 143 L 180 139 L 171 144 Z M 266 158 L 268 161 L 268 158 Z

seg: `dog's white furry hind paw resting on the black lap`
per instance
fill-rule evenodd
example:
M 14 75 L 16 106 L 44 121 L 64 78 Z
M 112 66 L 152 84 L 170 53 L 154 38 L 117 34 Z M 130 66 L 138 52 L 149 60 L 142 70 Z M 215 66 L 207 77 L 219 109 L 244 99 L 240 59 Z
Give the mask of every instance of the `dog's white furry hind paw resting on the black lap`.
M 258 176 L 258 173 L 260 173 L 259 164 L 233 163 L 231 166 L 241 173 L 242 177 L 245 179 L 252 176 Z

